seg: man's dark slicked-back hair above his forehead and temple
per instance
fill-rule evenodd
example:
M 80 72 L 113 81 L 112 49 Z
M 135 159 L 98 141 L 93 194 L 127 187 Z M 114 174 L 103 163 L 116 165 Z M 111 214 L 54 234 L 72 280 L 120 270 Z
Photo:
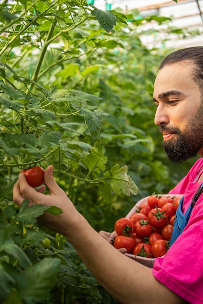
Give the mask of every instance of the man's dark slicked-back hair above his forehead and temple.
M 159 69 L 178 62 L 194 64 L 193 79 L 199 85 L 201 91 L 203 91 L 203 47 L 190 47 L 174 51 L 166 56 Z

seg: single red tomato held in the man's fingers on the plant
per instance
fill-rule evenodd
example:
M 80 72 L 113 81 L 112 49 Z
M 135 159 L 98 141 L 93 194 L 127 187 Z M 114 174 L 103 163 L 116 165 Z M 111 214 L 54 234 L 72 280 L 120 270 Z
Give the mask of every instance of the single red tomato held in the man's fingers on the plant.
M 33 188 L 41 186 L 44 183 L 44 169 L 41 167 L 36 166 L 29 169 L 22 169 L 20 173 L 25 175 L 28 185 Z

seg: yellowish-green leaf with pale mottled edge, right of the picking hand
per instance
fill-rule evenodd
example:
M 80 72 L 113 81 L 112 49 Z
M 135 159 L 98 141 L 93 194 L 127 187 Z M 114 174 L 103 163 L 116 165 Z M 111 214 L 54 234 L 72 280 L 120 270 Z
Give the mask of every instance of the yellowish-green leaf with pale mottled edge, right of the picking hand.
M 124 194 L 126 196 L 138 194 L 138 187 L 132 181 L 131 177 L 127 175 L 127 172 L 127 166 L 120 168 L 119 165 L 115 165 L 105 173 L 114 193 L 118 195 Z

